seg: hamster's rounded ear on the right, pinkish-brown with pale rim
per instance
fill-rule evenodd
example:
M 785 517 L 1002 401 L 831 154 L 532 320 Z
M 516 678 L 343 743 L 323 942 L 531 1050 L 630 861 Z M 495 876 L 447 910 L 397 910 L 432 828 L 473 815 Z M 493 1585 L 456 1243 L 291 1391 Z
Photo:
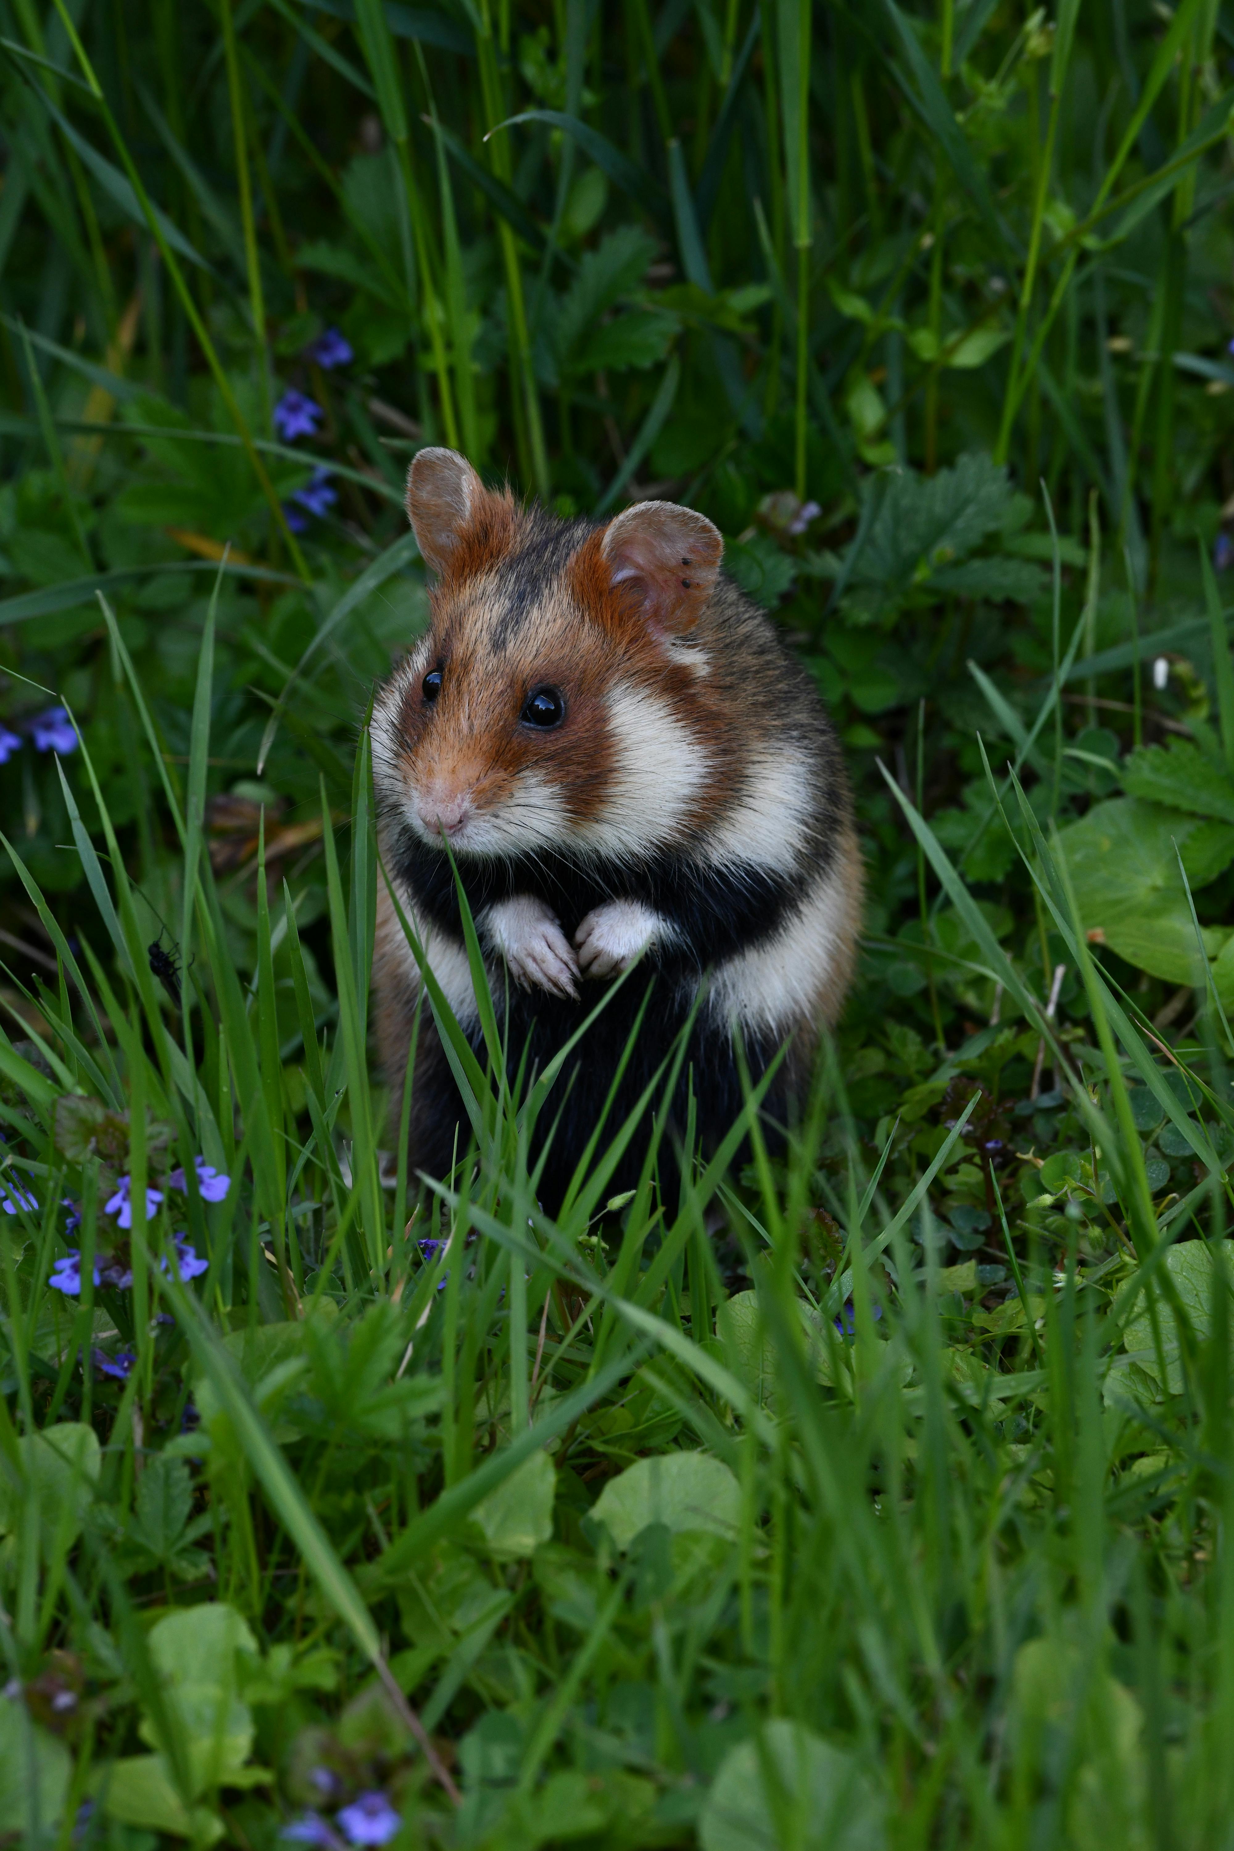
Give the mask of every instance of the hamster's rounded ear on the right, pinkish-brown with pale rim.
M 692 629 L 710 598 L 723 540 L 707 515 L 673 502 L 635 502 L 611 520 L 599 548 L 612 585 L 627 585 L 646 620 Z

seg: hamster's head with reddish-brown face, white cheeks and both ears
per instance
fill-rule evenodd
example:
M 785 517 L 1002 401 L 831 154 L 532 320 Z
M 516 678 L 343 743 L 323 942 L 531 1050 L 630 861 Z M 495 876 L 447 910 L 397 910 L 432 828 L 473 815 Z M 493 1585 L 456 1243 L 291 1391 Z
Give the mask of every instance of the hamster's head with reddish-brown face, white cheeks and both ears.
M 705 822 L 722 777 L 694 639 L 723 550 L 710 520 L 668 502 L 557 520 L 451 450 L 418 452 L 407 513 L 437 585 L 374 707 L 387 822 L 464 857 L 618 859 Z

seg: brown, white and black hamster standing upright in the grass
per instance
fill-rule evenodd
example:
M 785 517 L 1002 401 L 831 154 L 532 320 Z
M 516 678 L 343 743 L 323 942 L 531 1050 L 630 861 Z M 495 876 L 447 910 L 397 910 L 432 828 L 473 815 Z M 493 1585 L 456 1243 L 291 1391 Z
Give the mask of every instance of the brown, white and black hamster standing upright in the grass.
M 672 1168 L 690 1092 L 703 1148 L 740 1112 L 734 1027 L 755 1079 L 792 1044 L 764 1101 L 783 1116 L 853 972 L 862 864 L 849 785 L 812 681 L 722 574 L 723 540 L 703 515 L 636 502 L 607 522 L 559 520 L 437 448 L 411 465 L 407 513 L 437 587 L 427 635 L 376 696 L 374 790 L 385 872 L 455 1016 L 479 1051 L 442 839 L 511 1074 L 524 1053 L 527 1074 L 542 1072 L 603 985 L 642 959 L 542 1112 L 540 1199 L 553 1212 L 614 1079 L 599 1151 L 699 987 L 662 1161 Z M 398 1098 L 420 972 L 381 877 L 374 985 Z M 444 1177 L 468 1122 L 427 1001 L 418 1048 L 409 1157 Z M 636 1181 L 648 1135 L 614 1190 Z

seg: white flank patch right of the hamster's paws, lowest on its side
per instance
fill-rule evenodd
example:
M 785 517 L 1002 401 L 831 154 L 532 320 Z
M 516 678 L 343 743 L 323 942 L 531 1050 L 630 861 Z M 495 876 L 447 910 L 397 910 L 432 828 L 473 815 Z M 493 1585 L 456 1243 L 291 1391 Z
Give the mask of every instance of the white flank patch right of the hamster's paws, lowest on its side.
M 851 900 L 842 876 L 833 868 L 775 937 L 716 966 L 707 998 L 714 1016 L 777 1037 L 814 1018 L 829 974 L 847 953 Z

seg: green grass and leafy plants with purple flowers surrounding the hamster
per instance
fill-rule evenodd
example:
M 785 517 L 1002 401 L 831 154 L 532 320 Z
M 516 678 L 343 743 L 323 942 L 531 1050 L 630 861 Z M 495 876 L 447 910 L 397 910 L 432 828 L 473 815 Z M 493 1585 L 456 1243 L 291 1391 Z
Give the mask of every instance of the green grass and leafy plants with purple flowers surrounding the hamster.
M 1230 1844 L 1228 20 L 0 26 L 0 1838 Z M 783 1153 L 548 1220 L 561 1075 L 431 994 L 400 1161 L 426 442 L 697 505 L 816 674 Z

